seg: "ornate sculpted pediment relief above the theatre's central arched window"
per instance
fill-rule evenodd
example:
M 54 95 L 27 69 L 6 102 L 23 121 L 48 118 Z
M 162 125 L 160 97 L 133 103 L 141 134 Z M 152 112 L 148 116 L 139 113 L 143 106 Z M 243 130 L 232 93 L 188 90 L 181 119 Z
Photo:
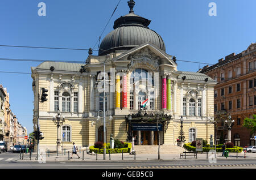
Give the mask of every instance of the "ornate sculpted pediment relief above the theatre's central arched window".
M 128 70 L 137 68 L 137 65 L 139 65 L 159 71 L 160 57 L 152 53 L 149 48 L 143 48 L 139 52 L 129 55 L 128 60 L 131 61 L 128 65 Z

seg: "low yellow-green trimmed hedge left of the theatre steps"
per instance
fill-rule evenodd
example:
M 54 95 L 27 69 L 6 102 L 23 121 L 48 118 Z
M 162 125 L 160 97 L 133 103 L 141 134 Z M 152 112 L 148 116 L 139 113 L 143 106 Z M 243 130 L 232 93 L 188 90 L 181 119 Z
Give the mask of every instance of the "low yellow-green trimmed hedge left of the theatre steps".
M 106 154 L 110 152 L 110 154 L 117 154 L 117 153 L 129 153 L 131 150 L 131 143 L 124 143 L 125 148 L 120 148 L 120 149 L 110 149 L 110 144 L 106 144 Z M 94 152 L 98 154 L 103 154 L 104 149 L 99 149 L 99 148 L 94 148 L 94 145 L 90 146 L 90 152 Z

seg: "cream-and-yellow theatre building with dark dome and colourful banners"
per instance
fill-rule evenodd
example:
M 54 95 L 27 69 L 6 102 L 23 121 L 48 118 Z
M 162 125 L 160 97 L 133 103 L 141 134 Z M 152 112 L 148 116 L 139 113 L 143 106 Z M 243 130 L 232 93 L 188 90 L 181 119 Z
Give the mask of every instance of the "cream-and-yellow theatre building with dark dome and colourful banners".
M 39 112 L 41 145 L 56 148 L 57 131 L 53 116 L 59 109 L 65 117 L 61 125 L 64 147 L 103 142 L 104 62 L 106 94 L 106 140 L 137 145 L 174 145 L 184 119 L 186 142 L 207 139 L 214 134 L 209 122 L 214 110 L 216 81 L 197 72 L 177 70 L 176 58 L 167 54 L 162 37 L 148 28 L 151 20 L 130 12 L 114 23 L 114 30 L 102 40 L 98 55 L 85 64 L 43 62 L 31 67 L 34 91 L 34 125 Z M 48 100 L 39 102 L 40 89 L 48 89 Z M 159 120 L 159 121 L 158 121 Z M 156 126 L 158 123 L 158 126 Z

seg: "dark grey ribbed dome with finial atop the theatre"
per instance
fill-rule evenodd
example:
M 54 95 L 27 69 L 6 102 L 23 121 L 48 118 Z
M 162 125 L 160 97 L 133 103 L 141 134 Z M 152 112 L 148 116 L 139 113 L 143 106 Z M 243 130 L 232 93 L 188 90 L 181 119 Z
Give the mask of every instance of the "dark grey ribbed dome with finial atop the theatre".
M 114 30 L 110 32 L 100 45 L 98 55 L 106 55 L 115 50 L 130 50 L 138 45 L 150 42 L 159 49 L 166 51 L 162 37 L 155 31 L 148 28 L 150 20 L 134 14 L 134 1 L 130 1 L 130 13 L 121 16 L 114 22 Z

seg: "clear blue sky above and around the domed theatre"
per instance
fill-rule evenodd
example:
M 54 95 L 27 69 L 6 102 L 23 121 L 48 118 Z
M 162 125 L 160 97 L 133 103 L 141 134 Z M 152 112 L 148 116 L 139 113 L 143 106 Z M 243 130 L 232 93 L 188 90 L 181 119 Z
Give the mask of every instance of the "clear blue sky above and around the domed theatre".
M 38 16 L 38 3 L 46 3 L 46 16 Z M 93 47 L 119 0 L 1 0 L 0 45 Z M 135 14 L 152 20 L 166 52 L 177 59 L 217 63 L 256 42 L 255 0 L 135 0 Z M 217 16 L 209 16 L 210 2 Z M 129 13 L 122 0 L 102 38 L 113 30 L 114 20 Z M 97 46 L 96 46 L 97 48 Z M 94 52 L 97 55 L 97 52 Z M 88 52 L 0 47 L 0 58 L 85 61 Z M 181 71 L 197 71 L 205 65 L 177 62 Z M 0 61 L 0 71 L 31 72 L 36 62 Z M 31 75 L 0 73 L 0 84 L 10 93 L 11 110 L 32 131 L 33 93 Z

